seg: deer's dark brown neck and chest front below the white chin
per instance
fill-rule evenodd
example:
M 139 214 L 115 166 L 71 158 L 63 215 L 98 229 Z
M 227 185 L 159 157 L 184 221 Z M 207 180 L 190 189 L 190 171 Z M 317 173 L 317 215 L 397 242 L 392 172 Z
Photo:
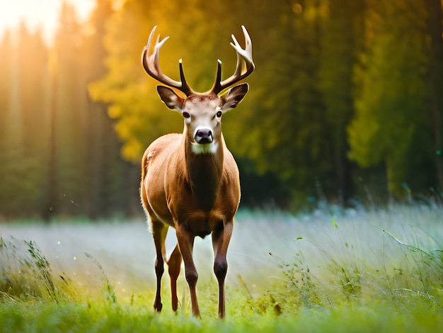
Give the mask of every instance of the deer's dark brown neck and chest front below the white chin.
M 205 154 L 195 154 L 191 143 L 185 140 L 185 160 L 190 188 L 203 210 L 211 210 L 223 172 L 223 137 L 217 141 L 217 149 Z

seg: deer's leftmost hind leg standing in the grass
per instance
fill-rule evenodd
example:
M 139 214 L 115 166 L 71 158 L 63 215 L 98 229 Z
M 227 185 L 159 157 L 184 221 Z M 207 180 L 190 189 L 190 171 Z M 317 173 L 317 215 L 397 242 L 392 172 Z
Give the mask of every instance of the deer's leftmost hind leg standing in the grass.
M 161 307 L 163 307 L 161 304 L 161 277 L 164 272 L 164 259 L 166 257 L 165 240 L 168 233 L 168 226 L 155 218 L 153 219 L 151 215 L 151 232 L 156 247 L 156 299 L 154 300 L 154 309 L 160 312 Z

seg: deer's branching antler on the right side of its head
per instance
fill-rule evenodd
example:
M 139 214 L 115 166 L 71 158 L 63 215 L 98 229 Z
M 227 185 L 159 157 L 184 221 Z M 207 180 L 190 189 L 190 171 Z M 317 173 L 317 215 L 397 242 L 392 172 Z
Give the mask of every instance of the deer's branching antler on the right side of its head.
M 234 43 L 231 43 L 232 47 L 234 47 L 234 50 L 236 50 L 237 54 L 237 64 L 236 64 L 236 70 L 234 74 L 231 75 L 228 79 L 221 81 L 222 78 L 222 62 L 219 60 L 218 67 L 217 67 L 217 77 L 214 82 L 214 86 L 212 86 L 211 91 L 214 94 L 219 94 L 221 91 L 226 89 L 227 87 L 235 84 L 238 81 L 241 81 L 242 79 L 248 77 L 254 70 L 255 65 L 252 60 L 252 41 L 251 37 L 248 34 L 248 30 L 244 26 L 241 26 L 243 30 L 243 35 L 245 36 L 245 49 L 243 50 L 236 40 L 234 35 L 232 36 L 232 40 Z M 246 64 L 246 69 L 242 73 L 242 67 L 243 63 L 242 60 Z

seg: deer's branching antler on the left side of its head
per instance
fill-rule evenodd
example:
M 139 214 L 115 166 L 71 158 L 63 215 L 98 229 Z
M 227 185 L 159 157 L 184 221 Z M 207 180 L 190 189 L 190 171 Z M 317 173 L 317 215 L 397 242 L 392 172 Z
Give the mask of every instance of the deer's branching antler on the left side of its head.
M 151 40 L 152 37 L 154 36 L 156 28 L 157 26 L 154 26 L 154 28 L 152 28 L 151 33 L 149 34 L 148 43 L 143 48 L 142 63 L 144 70 L 151 77 L 153 77 L 157 81 L 160 81 L 162 84 L 166 84 L 166 86 L 171 86 L 172 88 L 176 88 L 182 91 L 186 96 L 190 96 L 190 94 L 192 94 L 193 91 L 186 82 L 185 74 L 183 73 L 183 64 L 181 60 L 178 63 L 178 67 L 180 69 L 181 81 L 173 80 L 170 77 L 167 77 L 165 74 L 163 74 L 163 72 L 161 72 L 159 64 L 159 52 L 160 48 L 163 46 L 164 43 L 166 43 L 166 40 L 168 40 L 169 37 L 160 40 L 160 35 L 157 35 L 156 44 L 154 45 L 154 53 L 152 55 L 149 55 L 149 50 L 151 49 Z

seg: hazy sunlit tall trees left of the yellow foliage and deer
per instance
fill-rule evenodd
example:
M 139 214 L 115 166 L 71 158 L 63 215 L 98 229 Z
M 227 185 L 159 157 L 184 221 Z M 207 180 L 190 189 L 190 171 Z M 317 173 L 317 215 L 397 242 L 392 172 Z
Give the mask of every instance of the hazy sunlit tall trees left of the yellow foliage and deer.
M 62 6 L 54 43 L 22 24 L 0 44 L 0 219 L 127 214 L 138 204 L 137 166 L 88 83 L 106 72 L 105 22 L 97 1 L 87 26 Z M 138 207 L 137 207 L 138 210 Z

